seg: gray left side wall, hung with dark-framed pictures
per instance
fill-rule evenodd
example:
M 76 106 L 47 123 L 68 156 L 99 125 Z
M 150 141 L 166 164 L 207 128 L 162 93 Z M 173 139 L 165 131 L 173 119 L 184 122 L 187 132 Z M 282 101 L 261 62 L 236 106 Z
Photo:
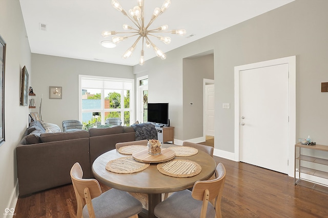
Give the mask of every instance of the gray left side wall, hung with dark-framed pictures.
M 5 75 L 5 143 L 0 147 L 0 214 L 17 200 L 16 145 L 28 126 L 28 107 L 19 105 L 20 75 L 27 67 L 30 79 L 31 50 L 18 0 L 0 0 L 0 35 L 7 43 Z

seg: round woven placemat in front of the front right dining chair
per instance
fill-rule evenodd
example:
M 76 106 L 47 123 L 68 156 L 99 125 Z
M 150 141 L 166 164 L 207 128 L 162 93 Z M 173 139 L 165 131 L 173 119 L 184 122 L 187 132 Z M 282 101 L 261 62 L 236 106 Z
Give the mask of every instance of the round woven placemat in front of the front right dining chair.
M 157 164 L 160 173 L 172 177 L 193 177 L 201 172 L 201 166 L 191 160 L 175 159 Z

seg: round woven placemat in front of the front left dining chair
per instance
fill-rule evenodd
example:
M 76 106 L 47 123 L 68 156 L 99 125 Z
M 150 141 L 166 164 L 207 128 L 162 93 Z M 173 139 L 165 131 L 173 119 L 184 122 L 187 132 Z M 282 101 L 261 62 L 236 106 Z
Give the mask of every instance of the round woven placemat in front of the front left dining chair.
M 106 164 L 106 169 L 117 174 L 132 174 L 143 171 L 149 165 L 149 163 L 138 162 L 133 157 L 121 157 L 109 161 Z

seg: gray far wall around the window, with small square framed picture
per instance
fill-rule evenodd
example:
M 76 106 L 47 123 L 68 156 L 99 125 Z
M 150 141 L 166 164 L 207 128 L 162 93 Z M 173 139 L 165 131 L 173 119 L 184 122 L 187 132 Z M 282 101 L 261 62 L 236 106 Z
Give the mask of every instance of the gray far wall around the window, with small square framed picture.
M 94 61 L 32 54 L 33 91 L 36 109 L 42 98 L 42 118 L 46 123 L 57 124 L 78 117 L 78 75 L 134 79 L 131 66 Z M 63 99 L 49 99 L 49 86 L 63 87 Z

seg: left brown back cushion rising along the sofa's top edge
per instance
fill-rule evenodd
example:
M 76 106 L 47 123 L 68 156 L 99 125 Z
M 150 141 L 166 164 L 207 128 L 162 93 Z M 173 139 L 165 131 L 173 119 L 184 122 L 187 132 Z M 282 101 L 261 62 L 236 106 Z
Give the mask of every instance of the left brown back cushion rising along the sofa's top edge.
M 89 138 L 89 132 L 81 130 L 75 132 L 43 133 L 40 135 L 40 139 L 42 142 L 64 141 L 78 138 Z

